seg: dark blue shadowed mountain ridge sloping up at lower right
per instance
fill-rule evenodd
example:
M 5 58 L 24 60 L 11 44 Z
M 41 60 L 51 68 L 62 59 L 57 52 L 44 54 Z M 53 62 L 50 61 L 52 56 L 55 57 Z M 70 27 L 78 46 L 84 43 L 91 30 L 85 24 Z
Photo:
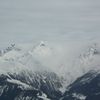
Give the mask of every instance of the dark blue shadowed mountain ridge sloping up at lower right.
M 99 100 L 100 69 L 91 70 L 70 84 L 61 100 Z

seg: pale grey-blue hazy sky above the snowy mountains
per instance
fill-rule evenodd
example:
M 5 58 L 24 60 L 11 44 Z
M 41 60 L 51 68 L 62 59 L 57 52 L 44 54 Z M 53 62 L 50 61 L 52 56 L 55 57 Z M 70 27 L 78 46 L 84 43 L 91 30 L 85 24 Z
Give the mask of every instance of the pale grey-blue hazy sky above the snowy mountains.
M 100 0 L 0 0 L 0 45 L 99 32 Z

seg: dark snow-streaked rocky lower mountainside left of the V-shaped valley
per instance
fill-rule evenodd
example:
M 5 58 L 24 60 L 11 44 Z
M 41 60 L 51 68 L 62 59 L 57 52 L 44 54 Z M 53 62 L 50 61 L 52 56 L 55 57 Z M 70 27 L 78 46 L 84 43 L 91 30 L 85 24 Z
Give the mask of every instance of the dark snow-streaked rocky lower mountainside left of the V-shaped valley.
M 2 74 L 0 100 L 58 100 L 61 87 L 61 80 L 54 73 Z

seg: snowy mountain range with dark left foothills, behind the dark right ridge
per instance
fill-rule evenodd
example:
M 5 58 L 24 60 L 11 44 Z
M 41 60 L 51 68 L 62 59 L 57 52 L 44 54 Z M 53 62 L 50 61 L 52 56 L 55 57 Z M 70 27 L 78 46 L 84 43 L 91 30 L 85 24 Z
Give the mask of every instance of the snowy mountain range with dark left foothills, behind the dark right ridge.
M 70 51 L 72 48 L 68 50 L 65 45 L 52 45 L 47 41 L 25 47 L 11 44 L 9 49 L 1 50 L 0 100 L 66 100 L 67 87 L 90 70 L 99 70 L 97 44 L 83 47 L 75 56 Z M 69 66 L 69 63 L 72 64 Z

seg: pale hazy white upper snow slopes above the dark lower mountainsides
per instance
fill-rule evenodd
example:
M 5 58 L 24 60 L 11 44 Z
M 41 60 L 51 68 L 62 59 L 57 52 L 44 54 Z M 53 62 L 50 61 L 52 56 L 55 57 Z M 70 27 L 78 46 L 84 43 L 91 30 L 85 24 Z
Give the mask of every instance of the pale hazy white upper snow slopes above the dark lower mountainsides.
M 0 74 L 20 75 L 23 71 L 25 73 L 39 72 L 39 74 L 45 71 L 53 72 L 59 79 L 62 77 L 59 82 L 62 86 L 58 90 L 64 92 L 66 87 L 78 77 L 99 65 L 99 45 L 83 46 L 80 51 L 78 50 L 80 47 L 73 47 L 74 53 L 71 46 L 73 45 L 66 47 L 59 44 L 52 45 L 47 41 L 27 45 L 25 46 L 27 48 L 21 45 L 11 45 L 10 50 L 6 49 L 7 51 L 0 56 Z M 10 82 L 21 84 L 20 80 L 16 79 L 11 79 Z

